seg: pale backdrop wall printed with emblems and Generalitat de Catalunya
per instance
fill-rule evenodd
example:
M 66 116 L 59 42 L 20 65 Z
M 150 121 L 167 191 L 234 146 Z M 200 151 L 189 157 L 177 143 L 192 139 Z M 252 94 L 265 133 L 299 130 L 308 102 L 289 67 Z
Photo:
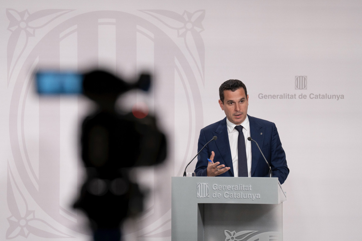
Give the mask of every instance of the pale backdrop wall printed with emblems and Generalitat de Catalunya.
M 232 78 L 248 88 L 249 114 L 275 122 L 286 151 L 284 239 L 362 239 L 361 1 L 0 6 L 1 240 L 89 240 L 71 205 L 84 177 L 79 124 L 92 103 L 39 98 L 31 73 L 95 67 L 125 79 L 154 74 L 150 93 L 119 105 L 146 102 L 168 137 L 167 162 L 135 173 L 150 194 L 125 240 L 171 240 L 171 176 L 195 155 L 199 130 L 224 117 L 218 87 Z

